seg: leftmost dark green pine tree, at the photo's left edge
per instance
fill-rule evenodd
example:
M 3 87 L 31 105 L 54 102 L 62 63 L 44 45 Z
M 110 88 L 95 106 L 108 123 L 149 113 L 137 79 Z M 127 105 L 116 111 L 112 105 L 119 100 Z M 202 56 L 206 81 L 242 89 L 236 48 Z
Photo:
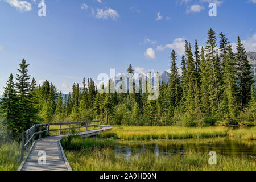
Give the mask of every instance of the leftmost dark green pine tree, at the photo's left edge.
M 25 126 L 20 121 L 19 100 L 15 91 L 13 74 L 10 75 L 7 86 L 3 90 L 0 107 L 6 116 L 5 125 L 7 127 L 7 133 L 12 137 L 20 137 Z

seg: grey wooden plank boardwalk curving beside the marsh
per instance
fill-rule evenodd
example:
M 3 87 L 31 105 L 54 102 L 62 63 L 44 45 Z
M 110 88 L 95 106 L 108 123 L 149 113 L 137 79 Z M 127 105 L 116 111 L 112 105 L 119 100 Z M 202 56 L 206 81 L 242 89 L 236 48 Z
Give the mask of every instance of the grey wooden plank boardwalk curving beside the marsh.
M 111 129 L 112 126 L 103 126 L 101 129 L 83 131 L 79 133 L 84 137 L 97 135 L 102 131 Z M 67 135 L 59 135 L 54 137 L 47 137 L 34 142 L 24 158 L 18 171 L 72 171 L 68 160 L 65 156 L 60 140 Z M 46 154 L 46 163 L 40 164 L 40 151 Z

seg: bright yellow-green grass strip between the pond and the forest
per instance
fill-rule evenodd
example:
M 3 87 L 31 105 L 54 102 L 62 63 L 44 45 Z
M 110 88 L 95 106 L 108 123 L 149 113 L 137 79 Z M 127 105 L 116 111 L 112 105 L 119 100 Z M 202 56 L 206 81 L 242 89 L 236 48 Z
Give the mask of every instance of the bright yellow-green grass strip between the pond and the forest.
M 118 126 L 100 134 L 102 138 L 122 140 L 152 139 L 191 139 L 236 137 L 244 140 L 256 140 L 256 127 L 233 130 L 225 126 L 211 127 L 175 127 L 175 126 Z

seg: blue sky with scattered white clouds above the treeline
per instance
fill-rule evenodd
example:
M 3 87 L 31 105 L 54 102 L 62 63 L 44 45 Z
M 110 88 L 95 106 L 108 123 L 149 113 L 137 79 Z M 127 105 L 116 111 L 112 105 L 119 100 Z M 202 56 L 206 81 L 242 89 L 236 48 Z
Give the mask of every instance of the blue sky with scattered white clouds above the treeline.
M 38 16 L 42 2 L 46 17 Z M 208 15 L 212 2 L 217 17 Z M 23 57 L 38 83 L 68 93 L 110 68 L 164 72 L 171 49 L 181 55 L 195 39 L 204 46 L 209 28 L 256 52 L 255 10 L 256 0 L 0 0 L 0 94 Z

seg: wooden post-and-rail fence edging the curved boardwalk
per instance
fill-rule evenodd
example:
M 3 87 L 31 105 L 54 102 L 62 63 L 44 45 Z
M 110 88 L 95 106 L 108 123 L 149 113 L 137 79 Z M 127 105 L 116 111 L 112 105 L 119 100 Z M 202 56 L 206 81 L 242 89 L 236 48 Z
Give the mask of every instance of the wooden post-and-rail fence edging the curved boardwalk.
M 59 129 L 51 129 L 52 125 L 59 125 Z M 61 125 L 68 125 L 67 128 L 61 128 Z M 74 127 L 71 125 L 78 125 Z M 88 127 L 92 127 L 94 130 L 95 127 L 101 127 L 101 121 L 82 121 L 82 122 L 65 122 L 65 123 L 45 123 L 34 125 L 27 131 L 22 133 L 22 150 L 21 150 L 21 158 L 20 161 L 23 161 L 24 151 L 28 151 L 28 149 L 32 146 L 35 140 L 42 139 L 49 136 L 50 131 L 59 131 L 59 135 L 61 135 L 61 131 L 68 130 L 68 134 L 71 134 L 71 130 L 78 129 L 78 133 L 80 133 L 81 128 L 85 128 L 88 131 Z

